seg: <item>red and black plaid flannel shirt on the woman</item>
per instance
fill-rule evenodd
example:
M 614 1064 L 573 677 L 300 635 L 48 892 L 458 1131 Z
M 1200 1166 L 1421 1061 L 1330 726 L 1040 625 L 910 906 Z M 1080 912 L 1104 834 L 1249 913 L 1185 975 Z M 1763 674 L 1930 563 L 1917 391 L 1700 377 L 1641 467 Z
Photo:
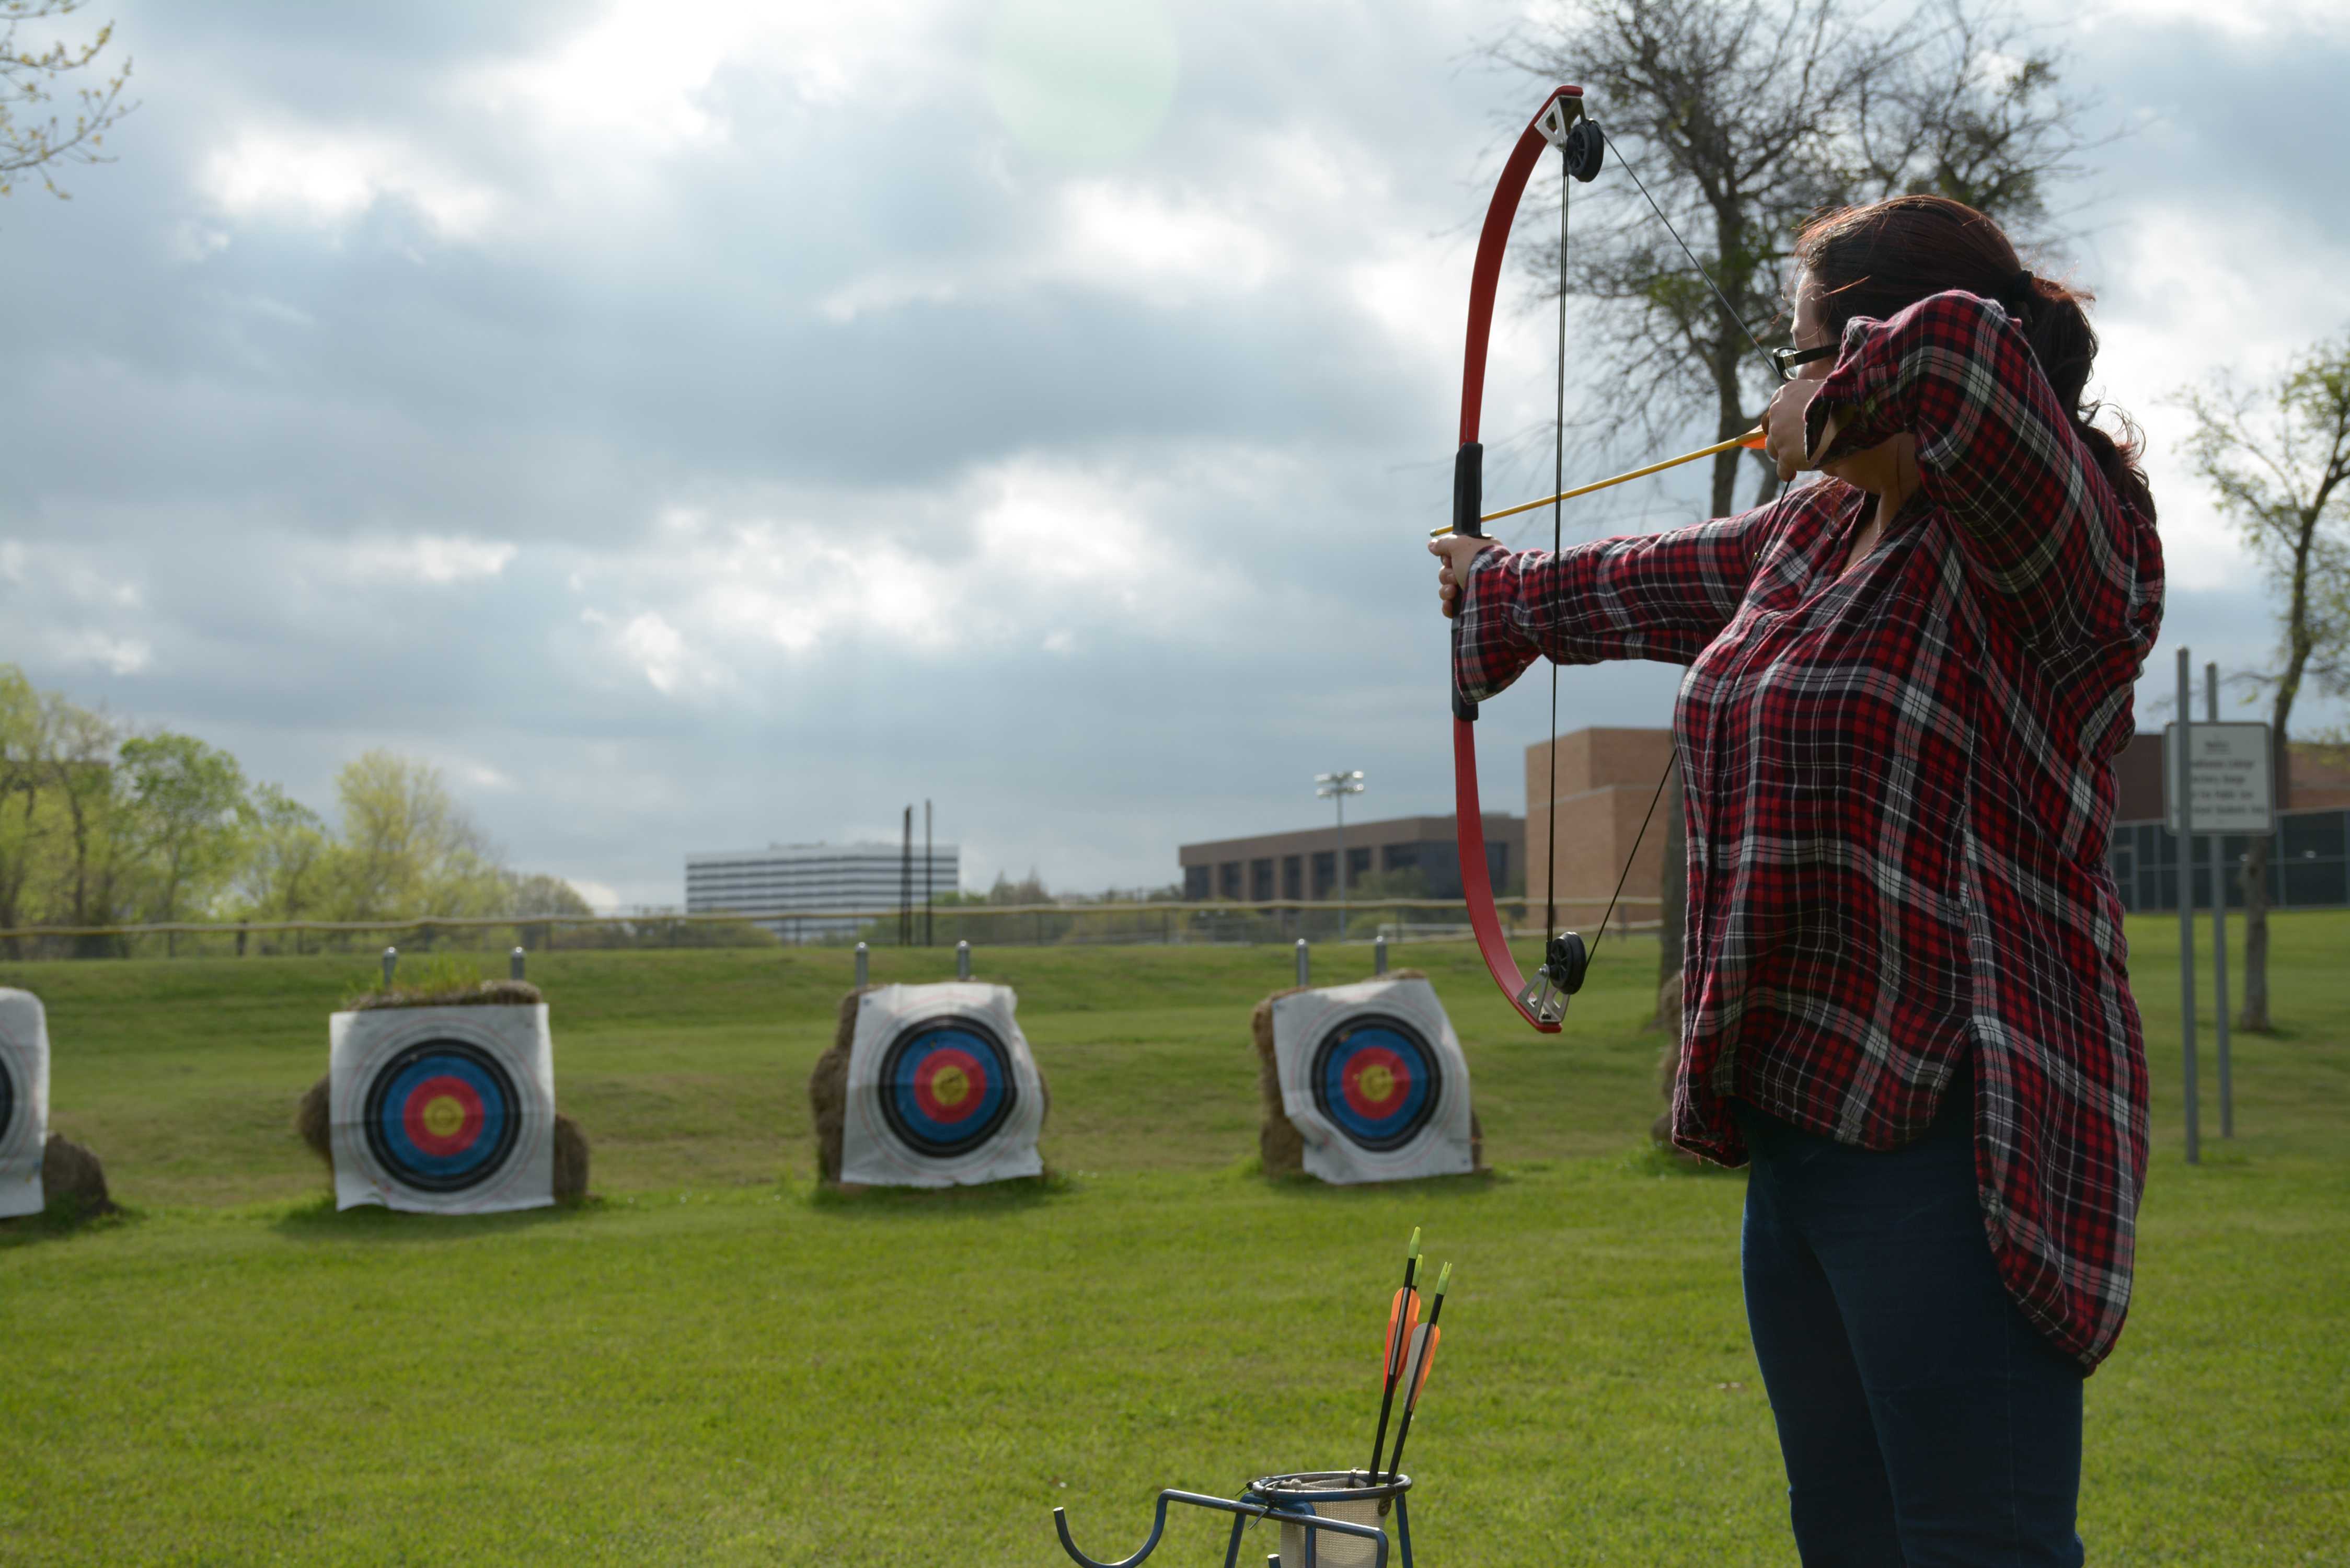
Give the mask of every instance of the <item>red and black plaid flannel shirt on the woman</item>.
M 1478 557 L 1457 679 L 1537 656 L 1687 665 L 1690 914 L 1673 1140 L 1725 1098 L 1871 1150 L 1974 1058 L 1976 1182 L 2009 1293 L 2113 1349 L 2146 1180 L 2146 1046 L 2106 867 L 2113 757 L 2162 623 L 2162 550 L 1995 303 L 1856 320 L 1812 400 L 1833 454 L 1918 440 L 1922 487 L 1842 571 L 1838 480 L 1694 529 Z

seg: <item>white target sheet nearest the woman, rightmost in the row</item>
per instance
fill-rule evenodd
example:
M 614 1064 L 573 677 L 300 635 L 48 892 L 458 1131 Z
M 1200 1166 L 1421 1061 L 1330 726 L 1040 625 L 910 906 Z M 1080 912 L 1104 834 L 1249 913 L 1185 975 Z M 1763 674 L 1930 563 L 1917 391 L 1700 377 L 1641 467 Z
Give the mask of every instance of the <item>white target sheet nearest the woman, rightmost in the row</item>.
M 1469 1060 L 1426 980 L 1361 980 L 1274 999 L 1281 1110 L 1325 1182 L 1476 1168 Z

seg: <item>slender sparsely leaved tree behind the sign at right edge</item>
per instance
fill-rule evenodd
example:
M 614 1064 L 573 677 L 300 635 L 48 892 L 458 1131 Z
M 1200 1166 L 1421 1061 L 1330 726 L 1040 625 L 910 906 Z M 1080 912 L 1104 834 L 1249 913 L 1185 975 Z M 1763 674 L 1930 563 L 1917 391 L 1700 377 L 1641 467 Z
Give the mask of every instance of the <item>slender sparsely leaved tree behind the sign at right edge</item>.
M 2350 331 L 2317 343 L 2282 376 L 2247 388 L 2221 376 L 2181 395 L 2195 416 L 2188 456 L 2218 491 L 2275 588 L 2277 665 L 2270 691 L 2275 776 L 2287 778 L 2287 726 L 2305 684 L 2350 693 Z M 2242 1027 L 2268 1027 L 2268 839 L 2244 860 Z

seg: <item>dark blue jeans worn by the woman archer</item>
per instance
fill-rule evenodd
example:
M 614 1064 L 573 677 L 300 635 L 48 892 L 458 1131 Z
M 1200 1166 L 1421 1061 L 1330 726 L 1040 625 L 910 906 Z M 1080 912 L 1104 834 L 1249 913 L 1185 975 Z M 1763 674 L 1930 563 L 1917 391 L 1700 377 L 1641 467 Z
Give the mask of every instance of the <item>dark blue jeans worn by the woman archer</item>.
M 1990 1260 L 1972 1077 L 1892 1152 L 1732 1110 L 1746 1324 L 1805 1568 L 2077 1568 L 2084 1373 Z

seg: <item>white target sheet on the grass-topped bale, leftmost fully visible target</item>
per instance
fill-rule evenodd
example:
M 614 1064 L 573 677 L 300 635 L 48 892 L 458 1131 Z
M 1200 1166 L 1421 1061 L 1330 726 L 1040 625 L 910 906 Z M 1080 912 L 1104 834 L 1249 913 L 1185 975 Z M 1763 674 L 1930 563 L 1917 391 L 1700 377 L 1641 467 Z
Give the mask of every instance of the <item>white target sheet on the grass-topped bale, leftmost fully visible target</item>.
M 334 1206 L 503 1213 L 555 1201 L 548 1009 L 397 1006 L 327 1030 Z

